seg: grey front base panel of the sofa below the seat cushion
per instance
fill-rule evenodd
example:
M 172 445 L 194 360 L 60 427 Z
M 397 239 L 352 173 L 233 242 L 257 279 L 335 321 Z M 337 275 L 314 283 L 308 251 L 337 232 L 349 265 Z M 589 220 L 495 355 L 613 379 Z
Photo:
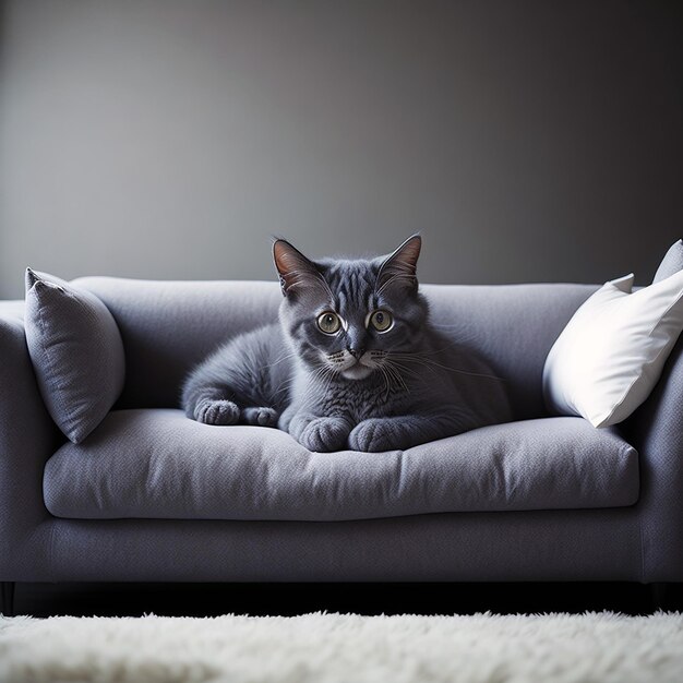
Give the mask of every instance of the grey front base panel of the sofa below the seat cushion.
M 49 565 L 24 580 L 648 580 L 633 507 L 316 523 L 55 519 L 52 528 Z

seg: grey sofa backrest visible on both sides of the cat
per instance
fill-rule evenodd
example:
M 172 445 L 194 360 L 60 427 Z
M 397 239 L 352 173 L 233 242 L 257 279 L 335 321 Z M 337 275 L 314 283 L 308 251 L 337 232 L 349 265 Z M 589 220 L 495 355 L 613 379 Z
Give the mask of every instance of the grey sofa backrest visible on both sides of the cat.
M 117 408 L 177 407 L 187 373 L 230 337 L 277 320 L 276 283 L 74 280 L 111 311 L 123 338 L 125 385 Z M 515 417 L 547 415 L 546 356 L 594 285 L 423 285 L 433 324 L 478 349 L 508 381 Z

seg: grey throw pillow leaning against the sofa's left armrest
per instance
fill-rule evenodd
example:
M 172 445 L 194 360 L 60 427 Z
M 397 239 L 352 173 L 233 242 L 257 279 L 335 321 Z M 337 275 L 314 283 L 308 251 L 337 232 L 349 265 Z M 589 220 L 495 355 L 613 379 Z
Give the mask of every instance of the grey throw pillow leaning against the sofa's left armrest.
M 123 343 L 93 293 L 26 269 L 26 344 L 47 409 L 65 436 L 82 442 L 123 388 Z

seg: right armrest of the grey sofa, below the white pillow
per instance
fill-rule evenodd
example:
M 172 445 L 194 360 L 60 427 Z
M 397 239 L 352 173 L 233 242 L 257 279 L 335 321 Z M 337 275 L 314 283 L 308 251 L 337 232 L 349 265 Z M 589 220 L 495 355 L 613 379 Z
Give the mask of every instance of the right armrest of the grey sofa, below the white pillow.
M 643 580 L 683 582 L 683 335 L 622 431 L 640 462 Z

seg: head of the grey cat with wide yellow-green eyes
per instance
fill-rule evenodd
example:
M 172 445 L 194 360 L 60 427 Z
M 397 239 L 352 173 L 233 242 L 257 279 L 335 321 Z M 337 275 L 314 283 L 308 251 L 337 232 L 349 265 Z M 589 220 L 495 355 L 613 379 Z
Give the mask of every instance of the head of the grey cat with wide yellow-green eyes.
M 275 241 L 280 322 L 310 369 L 364 380 L 388 372 L 392 355 L 420 347 L 428 314 L 416 275 L 421 243 L 414 235 L 388 256 L 311 261 Z

